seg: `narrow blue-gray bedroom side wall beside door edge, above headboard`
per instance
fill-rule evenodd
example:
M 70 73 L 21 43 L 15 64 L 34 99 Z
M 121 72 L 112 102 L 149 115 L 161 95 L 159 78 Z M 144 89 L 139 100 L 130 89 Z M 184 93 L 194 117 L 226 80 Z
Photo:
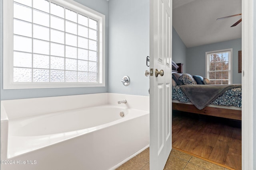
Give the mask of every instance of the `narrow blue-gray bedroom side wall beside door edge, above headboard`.
M 175 63 L 183 63 L 183 73 L 186 73 L 186 50 L 187 47 L 183 43 L 183 41 L 180 39 L 180 36 L 172 27 L 172 61 Z

